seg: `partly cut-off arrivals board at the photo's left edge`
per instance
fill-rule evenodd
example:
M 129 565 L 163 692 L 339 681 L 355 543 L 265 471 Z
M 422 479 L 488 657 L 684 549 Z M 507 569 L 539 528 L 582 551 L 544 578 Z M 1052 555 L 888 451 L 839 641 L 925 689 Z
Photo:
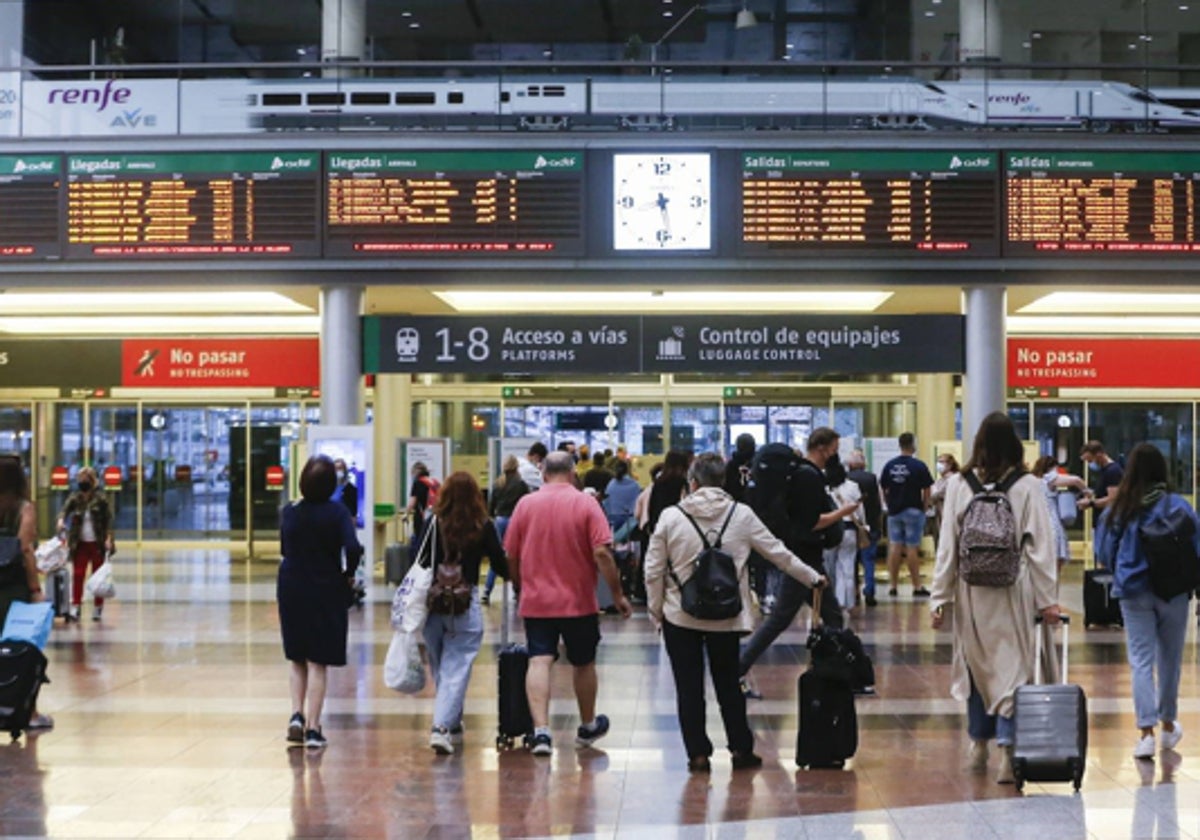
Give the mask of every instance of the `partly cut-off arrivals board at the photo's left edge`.
M 0 156 L 0 260 L 59 257 L 58 155 Z

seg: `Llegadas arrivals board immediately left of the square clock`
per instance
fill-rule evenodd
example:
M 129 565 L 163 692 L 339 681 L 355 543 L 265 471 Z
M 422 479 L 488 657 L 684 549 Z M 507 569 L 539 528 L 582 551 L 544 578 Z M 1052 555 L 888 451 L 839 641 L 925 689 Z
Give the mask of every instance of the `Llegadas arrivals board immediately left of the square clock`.
M 325 253 L 582 256 L 581 151 L 325 158 Z

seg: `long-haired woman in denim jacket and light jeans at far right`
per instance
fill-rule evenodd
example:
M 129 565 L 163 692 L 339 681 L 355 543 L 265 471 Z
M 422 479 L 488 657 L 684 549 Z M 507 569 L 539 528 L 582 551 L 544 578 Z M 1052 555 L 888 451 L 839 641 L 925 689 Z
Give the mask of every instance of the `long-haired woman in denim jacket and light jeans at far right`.
M 1112 570 L 1112 594 L 1121 599 L 1124 617 L 1133 704 L 1141 731 L 1133 750 L 1135 758 L 1154 757 L 1154 726 L 1159 722 L 1163 725 L 1159 738 L 1163 750 L 1174 750 L 1183 737 L 1183 727 L 1176 718 L 1183 642 L 1188 632 L 1188 600 L 1195 578 L 1183 578 L 1182 584 L 1162 592 L 1162 583 L 1152 583 L 1150 546 L 1145 536 L 1152 521 L 1170 522 L 1172 518 L 1180 522 L 1184 548 L 1190 548 L 1187 563 L 1194 575 L 1195 558 L 1200 553 L 1196 514 L 1182 496 L 1171 492 L 1163 454 L 1152 444 L 1140 443 L 1129 452 L 1116 498 L 1096 528 L 1097 559 Z

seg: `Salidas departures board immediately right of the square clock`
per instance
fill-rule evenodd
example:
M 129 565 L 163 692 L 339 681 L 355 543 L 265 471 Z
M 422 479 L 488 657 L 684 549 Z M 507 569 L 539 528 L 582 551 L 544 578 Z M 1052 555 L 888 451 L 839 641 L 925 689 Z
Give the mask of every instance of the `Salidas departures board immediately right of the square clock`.
M 994 151 L 752 151 L 744 257 L 1000 254 Z

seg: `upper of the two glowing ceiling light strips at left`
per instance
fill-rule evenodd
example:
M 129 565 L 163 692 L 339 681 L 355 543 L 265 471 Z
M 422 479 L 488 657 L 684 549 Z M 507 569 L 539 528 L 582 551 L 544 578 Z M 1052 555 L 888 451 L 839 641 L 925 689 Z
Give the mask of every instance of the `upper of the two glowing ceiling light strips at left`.
M 276 292 L 8 292 L 0 295 L 0 316 L 132 314 L 181 312 L 188 314 L 251 312 L 312 312 L 311 306 Z

